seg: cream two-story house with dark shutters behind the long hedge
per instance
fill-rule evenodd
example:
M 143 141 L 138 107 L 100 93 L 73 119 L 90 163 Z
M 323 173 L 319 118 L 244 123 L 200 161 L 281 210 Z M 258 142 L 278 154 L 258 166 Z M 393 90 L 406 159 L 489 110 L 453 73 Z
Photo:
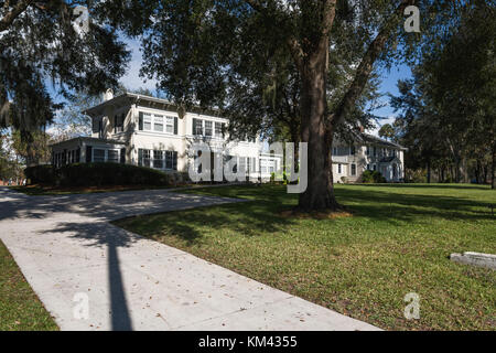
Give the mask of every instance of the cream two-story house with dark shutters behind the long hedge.
M 52 145 L 55 167 L 77 162 L 130 163 L 162 170 L 187 172 L 194 161 L 191 146 L 204 142 L 224 161 L 236 159 L 236 169 L 250 179 L 267 180 L 281 165 L 281 158 L 262 152 L 262 142 L 229 140 L 228 119 L 216 111 L 185 113 L 166 99 L 126 93 L 85 111 L 91 117 L 91 137 L 78 137 Z M 213 165 L 213 162 L 212 162 Z

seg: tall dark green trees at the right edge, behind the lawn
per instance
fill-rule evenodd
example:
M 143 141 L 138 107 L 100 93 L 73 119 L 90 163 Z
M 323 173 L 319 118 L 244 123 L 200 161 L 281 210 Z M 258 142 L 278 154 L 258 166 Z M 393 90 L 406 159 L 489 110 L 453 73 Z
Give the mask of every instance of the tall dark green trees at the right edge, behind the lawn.
M 468 2 L 391 97 L 407 168 L 431 170 L 440 181 L 481 181 L 495 170 L 496 6 Z

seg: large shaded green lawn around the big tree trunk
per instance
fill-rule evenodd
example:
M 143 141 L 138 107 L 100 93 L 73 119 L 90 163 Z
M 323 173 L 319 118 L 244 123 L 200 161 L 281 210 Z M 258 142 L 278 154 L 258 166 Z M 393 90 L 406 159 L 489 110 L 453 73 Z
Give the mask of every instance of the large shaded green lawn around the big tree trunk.
M 187 192 L 252 202 L 116 222 L 241 275 L 389 330 L 495 330 L 496 271 L 451 253 L 496 254 L 496 191 L 459 184 L 337 185 L 351 217 L 288 217 L 283 186 Z M 420 320 L 403 298 L 420 296 Z

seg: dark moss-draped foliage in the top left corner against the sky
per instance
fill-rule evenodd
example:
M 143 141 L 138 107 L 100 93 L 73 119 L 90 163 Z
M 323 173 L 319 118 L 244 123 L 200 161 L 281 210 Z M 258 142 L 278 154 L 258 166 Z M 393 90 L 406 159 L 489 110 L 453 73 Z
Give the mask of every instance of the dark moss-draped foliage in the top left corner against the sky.
M 87 29 L 79 25 L 86 6 Z M 51 122 L 60 105 L 47 85 L 98 94 L 117 86 L 129 52 L 114 29 L 94 21 L 93 1 L 2 1 L 0 8 L 0 128 L 31 131 Z

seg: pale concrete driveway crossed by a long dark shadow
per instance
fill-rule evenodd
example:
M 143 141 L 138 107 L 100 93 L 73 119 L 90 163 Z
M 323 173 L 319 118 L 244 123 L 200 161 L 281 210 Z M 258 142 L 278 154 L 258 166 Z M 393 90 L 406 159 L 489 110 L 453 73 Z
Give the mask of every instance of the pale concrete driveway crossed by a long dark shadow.
M 376 330 L 108 223 L 226 202 L 239 201 L 0 188 L 0 238 L 62 330 Z

